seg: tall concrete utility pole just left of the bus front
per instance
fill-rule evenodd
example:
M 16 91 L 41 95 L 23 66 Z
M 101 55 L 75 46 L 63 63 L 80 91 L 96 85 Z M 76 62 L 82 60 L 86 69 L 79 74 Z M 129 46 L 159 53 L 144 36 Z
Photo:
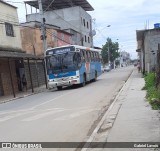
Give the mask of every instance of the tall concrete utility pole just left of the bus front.
M 45 27 L 45 18 L 43 14 L 43 7 L 42 7 L 42 0 L 38 0 L 38 5 L 39 5 L 39 14 L 41 18 L 41 40 L 43 41 L 43 54 L 44 54 L 44 70 L 45 70 L 45 82 L 46 82 L 46 89 L 48 88 L 48 83 L 47 83 L 47 70 L 46 70 L 46 50 L 47 50 L 47 42 L 46 42 L 46 27 Z

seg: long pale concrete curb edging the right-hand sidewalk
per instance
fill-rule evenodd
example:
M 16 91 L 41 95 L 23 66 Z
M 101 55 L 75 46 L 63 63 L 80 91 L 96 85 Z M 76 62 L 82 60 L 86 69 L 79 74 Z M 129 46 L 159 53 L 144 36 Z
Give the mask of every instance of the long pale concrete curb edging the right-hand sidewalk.
M 94 138 L 96 137 L 99 129 L 101 128 L 102 124 L 104 123 L 106 117 L 108 116 L 108 114 L 110 113 L 110 111 L 112 110 L 113 106 L 115 105 L 115 103 L 117 102 L 120 94 L 122 93 L 123 89 L 125 88 L 129 78 L 131 77 L 131 75 L 133 74 L 133 70 L 131 71 L 131 73 L 128 75 L 127 80 L 125 81 L 125 83 L 123 84 L 123 86 L 121 87 L 121 89 L 119 90 L 118 94 L 115 96 L 113 102 L 111 103 L 111 105 L 109 106 L 108 110 L 106 111 L 106 113 L 103 115 L 102 119 L 100 120 L 100 122 L 98 123 L 97 127 L 94 129 L 94 131 L 92 132 L 92 134 L 90 135 L 90 137 L 88 138 L 88 140 L 86 141 L 85 145 L 83 146 L 83 148 L 81 149 L 81 151 L 87 151 L 88 147 L 90 146 L 90 143 L 94 140 Z M 118 114 L 118 113 L 117 113 Z

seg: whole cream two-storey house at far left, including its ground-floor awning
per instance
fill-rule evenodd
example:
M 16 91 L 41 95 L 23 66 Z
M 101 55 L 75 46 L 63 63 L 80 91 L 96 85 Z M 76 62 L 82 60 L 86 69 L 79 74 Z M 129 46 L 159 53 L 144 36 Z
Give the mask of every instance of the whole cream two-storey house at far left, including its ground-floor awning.
M 35 66 L 31 66 L 35 64 L 34 61 L 30 63 L 31 59 L 36 57 L 22 50 L 17 8 L 0 1 L 0 96 L 13 94 L 15 97 L 17 92 L 22 91 L 23 74 L 27 78 L 27 86 L 33 88 L 37 77 L 31 73 L 36 71 Z M 43 72 L 43 67 L 40 71 Z M 44 79 L 43 74 L 40 81 Z

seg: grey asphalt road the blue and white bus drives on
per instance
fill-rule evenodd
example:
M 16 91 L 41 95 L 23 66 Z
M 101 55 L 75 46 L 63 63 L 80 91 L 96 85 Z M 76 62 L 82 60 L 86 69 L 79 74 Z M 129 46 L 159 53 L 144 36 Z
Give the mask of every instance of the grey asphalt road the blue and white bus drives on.
M 86 141 L 132 69 L 106 72 L 85 87 L 50 90 L 0 104 L 1 142 Z

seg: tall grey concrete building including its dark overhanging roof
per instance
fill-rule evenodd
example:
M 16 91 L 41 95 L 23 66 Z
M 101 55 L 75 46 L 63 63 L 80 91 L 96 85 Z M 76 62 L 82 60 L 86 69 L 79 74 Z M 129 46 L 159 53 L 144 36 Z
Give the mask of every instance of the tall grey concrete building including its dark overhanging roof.
M 25 1 L 25 4 L 36 9 L 39 8 L 37 1 Z M 54 0 L 51 5 L 50 1 L 42 1 L 42 5 L 45 10 L 46 24 L 58 26 L 72 34 L 72 43 L 75 45 L 93 47 L 92 18 L 87 11 L 94 9 L 87 0 Z M 28 12 L 27 10 L 26 12 Z M 39 13 L 26 14 L 27 22 L 40 22 L 40 19 Z

